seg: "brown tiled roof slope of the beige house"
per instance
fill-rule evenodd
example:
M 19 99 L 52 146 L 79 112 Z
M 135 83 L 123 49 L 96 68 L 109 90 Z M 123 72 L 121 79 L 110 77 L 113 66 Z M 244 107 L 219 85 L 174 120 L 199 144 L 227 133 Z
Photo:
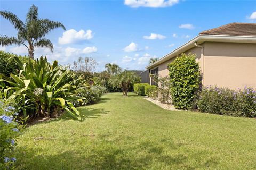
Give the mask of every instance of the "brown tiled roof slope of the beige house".
M 205 35 L 256 36 L 256 23 L 230 23 L 200 32 Z

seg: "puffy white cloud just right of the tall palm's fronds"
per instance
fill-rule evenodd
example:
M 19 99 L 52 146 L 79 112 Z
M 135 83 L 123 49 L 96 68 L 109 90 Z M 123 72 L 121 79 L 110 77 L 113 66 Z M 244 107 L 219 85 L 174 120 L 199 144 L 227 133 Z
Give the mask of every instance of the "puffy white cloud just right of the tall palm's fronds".
M 62 37 L 59 37 L 59 44 L 70 44 L 76 43 L 78 41 L 89 40 L 93 38 L 92 30 L 84 30 L 76 31 L 74 29 L 67 30 L 63 32 Z

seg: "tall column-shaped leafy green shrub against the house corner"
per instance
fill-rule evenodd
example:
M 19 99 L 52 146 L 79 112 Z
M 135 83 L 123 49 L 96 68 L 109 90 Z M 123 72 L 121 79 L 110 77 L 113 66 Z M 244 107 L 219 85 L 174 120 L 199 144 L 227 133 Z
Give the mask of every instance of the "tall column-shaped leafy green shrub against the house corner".
M 195 54 L 181 54 L 169 64 L 172 102 L 177 109 L 190 109 L 199 89 L 199 64 Z

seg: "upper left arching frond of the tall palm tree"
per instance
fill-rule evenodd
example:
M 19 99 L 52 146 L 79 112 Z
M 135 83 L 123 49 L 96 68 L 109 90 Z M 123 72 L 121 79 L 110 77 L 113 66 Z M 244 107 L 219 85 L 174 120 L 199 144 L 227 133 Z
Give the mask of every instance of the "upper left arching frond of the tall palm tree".
M 17 15 L 9 12 L 9 11 L 0 11 L 0 15 L 9 20 L 11 24 L 17 29 L 18 31 L 25 29 L 24 23 L 18 18 Z

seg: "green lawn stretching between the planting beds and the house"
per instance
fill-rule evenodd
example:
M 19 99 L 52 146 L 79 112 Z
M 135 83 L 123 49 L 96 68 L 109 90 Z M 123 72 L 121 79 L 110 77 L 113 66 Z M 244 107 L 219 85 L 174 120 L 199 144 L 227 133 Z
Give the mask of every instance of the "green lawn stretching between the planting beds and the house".
M 82 121 L 28 127 L 19 169 L 256 169 L 256 120 L 166 111 L 143 97 L 107 94 Z

